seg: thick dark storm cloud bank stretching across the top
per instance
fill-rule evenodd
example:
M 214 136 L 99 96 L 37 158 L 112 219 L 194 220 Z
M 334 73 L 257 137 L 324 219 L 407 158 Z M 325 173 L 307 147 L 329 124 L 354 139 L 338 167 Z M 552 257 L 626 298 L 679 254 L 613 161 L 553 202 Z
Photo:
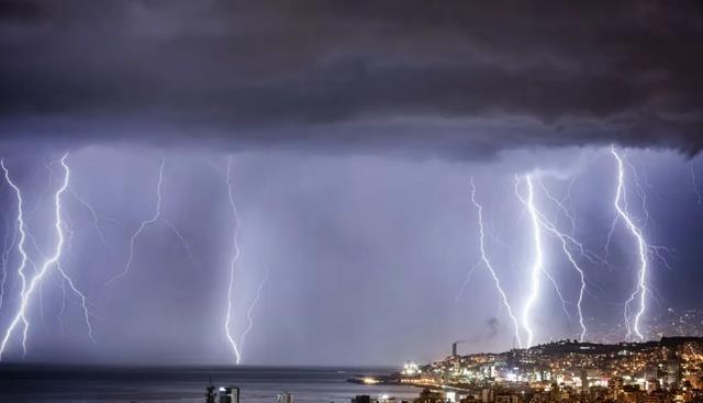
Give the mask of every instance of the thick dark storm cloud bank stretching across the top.
M 490 155 L 703 146 L 698 2 L 0 8 L 8 137 Z M 192 144 L 192 143 L 187 143 Z

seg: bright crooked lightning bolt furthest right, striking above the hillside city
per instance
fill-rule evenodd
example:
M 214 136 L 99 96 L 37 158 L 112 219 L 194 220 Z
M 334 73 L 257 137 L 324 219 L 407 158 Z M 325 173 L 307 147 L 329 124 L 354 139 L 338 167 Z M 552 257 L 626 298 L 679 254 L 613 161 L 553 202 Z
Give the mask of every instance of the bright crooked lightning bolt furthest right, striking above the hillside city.
M 632 335 L 632 332 L 637 335 L 637 337 L 643 340 L 645 336 L 639 331 L 639 322 L 641 316 L 645 314 L 646 302 L 647 302 L 647 254 L 648 254 L 648 245 L 645 240 L 645 237 L 641 234 L 641 230 L 635 225 L 629 212 L 627 211 L 627 203 L 624 201 L 625 199 L 625 169 L 623 158 L 617 154 L 615 146 L 611 146 L 611 154 L 617 161 L 617 190 L 615 192 L 615 200 L 613 202 L 615 206 L 615 211 L 617 211 L 617 216 L 621 217 L 627 230 L 632 233 L 632 235 L 637 240 L 637 250 L 639 255 L 639 272 L 637 276 L 637 287 L 629 295 L 629 299 L 625 302 L 625 323 L 627 325 L 627 337 Z M 634 303 L 635 299 L 639 294 L 639 310 L 635 314 L 634 324 L 631 326 L 631 322 L 628 318 L 628 311 L 632 303 Z

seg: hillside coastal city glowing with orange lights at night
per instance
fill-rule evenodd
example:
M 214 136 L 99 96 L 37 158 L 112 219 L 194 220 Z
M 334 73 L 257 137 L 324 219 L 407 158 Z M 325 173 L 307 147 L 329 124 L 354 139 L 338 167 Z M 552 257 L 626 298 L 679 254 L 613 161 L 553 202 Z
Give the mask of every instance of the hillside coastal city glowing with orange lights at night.
M 703 401 L 703 338 L 593 344 L 560 340 L 496 354 L 453 355 L 368 384 L 426 388 L 415 402 L 667 403 Z M 381 399 L 382 401 L 383 399 Z

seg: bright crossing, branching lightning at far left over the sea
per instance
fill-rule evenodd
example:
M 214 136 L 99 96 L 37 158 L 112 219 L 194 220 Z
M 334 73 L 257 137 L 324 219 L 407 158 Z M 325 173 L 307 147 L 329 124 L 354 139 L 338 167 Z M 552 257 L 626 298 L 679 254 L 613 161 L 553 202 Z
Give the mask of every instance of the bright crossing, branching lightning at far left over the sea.
M 34 292 L 41 287 L 42 284 L 42 280 L 44 279 L 44 277 L 51 272 L 52 268 L 56 268 L 56 270 L 60 273 L 60 276 L 64 278 L 64 280 L 69 282 L 69 286 L 71 287 L 71 290 L 81 298 L 81 302 L 82 302 L 82 307 L 83 307 L 83 313 L 85 313 L 85 318 L 86 318 L 86 323 L 88 325 L 88 335 L 90 337 L 90 339 L 94 343 L 94 338 L 92 337 L 92 327 L 90 326 L 90 318 L 89 318 L 89 313 L 88 313 L 88 306 L 87 306 L 87 299 L 86 296 L 78 291 L 78 289 L 75 287 L 72 280 L 70 279 L 70 277 L 60 267 L 60 258 L 62 258 L 62 251 L 64 248 L 64 243 L 65 243 L 65 238 L 64 238 L 64 230 L 63 230 L 63 220 L 62 220 L 62 195 L 64 194 L 64 192 L 66 191 L 66 189 L 68 188 L 68 182 L 70 179 L 70 169 L 68 168 L 68 165 L 66 164 L 66 159 L 68 158 L 68 154 L 64 154 L 64 156 L 60 159 L 60 165 L 64 169 L 64 181 L 60 186 L 60 188 L 58 188 L 58 190 L 56 191 L 56 193 L 54 194 L 54 211 L 55 211 L 55 222 L 54 222 L 54 228 L 56 231 L 56 246 L 54 249 L 54 253 L 52 254 L 52 256 L 49 256 L 47 259 L 44 260 L 44 262 L 42 264 L 42 266 L 38 268 L 37 272 L 34 273 L 34 276 L 32 277 L 32 280 L 29 283 L 29 287 L 26 286 L 26 280 L 24 278 L 24 275 L 22 273 L 20 277 L 22 278 L 22 293 L 21 293 L 21 303 L 20 306 L 18 307 L 18 312 L 14 315 L 14 318 L 12 320 L 12 322 L 10 323 L 4 337 L 2 338 L 2 343 L 0 344 L 0 361 L 2 360 L 2 355 L 4 354 L 4 350 L 7 348 L 8 342 L 10 340 L 10 337 L 12 336 L 12 334 L 14 333 L 14 331 L 16 329 L 18 325 L 20 324 L 20 322 L 23 323 L 24 328 L 23 328 L 23 333 L 22 333 L 22 350 L 24 351 L 24 354 L 26 354 L 26 338 L 27 338 L 27 332 L 29 332 L 29 322 L 26 321 L 26 312 L 29 310 L 30 306 L 30 302 L 32 300 L 32 296 L 34 294 Z M 14 183 L 12 183 L 11 180 L 9 180 L 9 175 L 8 175 L 8 170 L 7 168 L 4 168 L 4 164 L 2 165 L 3 170 L 5 172 L 5 179 L 8 180 L 9 183 L 11 183 L 11 187 L 13 189 L 15 189 L 15 193 L 18 194 L 18 198 L 21 199 L 21 193 L 19 191 L 19 188 L 16 188 L 16 186 L 14 186 Z M 20 209 L 21 211 L 21 209 Z M 22 245 L 21 250 L 23 249 L 23 243 L 24 243 L 24 237 L 25 237 L 25 233 L 24 233 L 24 223 L 21 220 L 21 214 L 19 214 L 19 225 L 20 225 L 20 231 L 21 231 L 21 239 L 20 239 L 20 244 Z M 21 251 L 21 254 L 23 255 L 22 257 L 22 264 L 21 265 L 25 265 L 26 264 L 26 255 Z M 22 267 L 22 266 L 21 266 Z M 22 267 L 23 269 L 23 267 Z M 19 270 L 20 271 L 20 270 Z

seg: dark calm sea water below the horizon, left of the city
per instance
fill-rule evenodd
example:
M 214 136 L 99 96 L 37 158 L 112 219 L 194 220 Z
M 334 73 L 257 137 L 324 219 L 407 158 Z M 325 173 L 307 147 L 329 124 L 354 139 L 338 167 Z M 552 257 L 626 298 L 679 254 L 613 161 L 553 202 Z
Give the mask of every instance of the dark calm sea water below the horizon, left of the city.
M 362 368 L 114 368 L 0 366 L 0 402 L 203 402 L 213 385 L 236 385 L 243 403 L 274 403 L 290 392 L 295 403 L 349 403 L 357 394 L 410 400 L 419 390 L 401 385 L 360 385 L 355 376 L 391 370 Z

